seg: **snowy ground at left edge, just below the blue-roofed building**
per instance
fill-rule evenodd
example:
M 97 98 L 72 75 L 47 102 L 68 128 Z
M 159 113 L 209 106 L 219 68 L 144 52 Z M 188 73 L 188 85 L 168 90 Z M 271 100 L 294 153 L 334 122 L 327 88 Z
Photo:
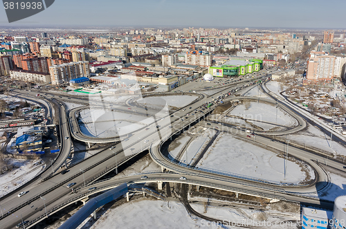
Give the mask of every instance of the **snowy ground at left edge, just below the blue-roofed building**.
M 10 159 L 10 164 L 18 168 L 0 175 L 0 187 L 2 190 L 0 196 L 14 190 L 19 187 L 19 185 L 35 177 L 42 169 L 42 165 L 34 165 L 37 162 L 38 161 Z

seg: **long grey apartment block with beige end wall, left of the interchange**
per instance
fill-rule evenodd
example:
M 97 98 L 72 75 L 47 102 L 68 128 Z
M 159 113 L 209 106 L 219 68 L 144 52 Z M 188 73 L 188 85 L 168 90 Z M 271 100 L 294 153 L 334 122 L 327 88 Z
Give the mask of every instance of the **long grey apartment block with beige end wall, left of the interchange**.
M 71 62 L 49 67 L 52 84 L 68 83 L 78 77 L 89 77 L 89 62 Z

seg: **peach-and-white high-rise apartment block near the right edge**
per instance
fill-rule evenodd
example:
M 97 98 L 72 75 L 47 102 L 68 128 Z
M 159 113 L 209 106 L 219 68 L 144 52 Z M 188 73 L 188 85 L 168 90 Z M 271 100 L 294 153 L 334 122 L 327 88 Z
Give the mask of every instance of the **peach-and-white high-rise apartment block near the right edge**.
M 331 80 L 335 76 L 334 66 L 336 57 L 325 52 L 311 51 L 307 64 L 307 80 Z

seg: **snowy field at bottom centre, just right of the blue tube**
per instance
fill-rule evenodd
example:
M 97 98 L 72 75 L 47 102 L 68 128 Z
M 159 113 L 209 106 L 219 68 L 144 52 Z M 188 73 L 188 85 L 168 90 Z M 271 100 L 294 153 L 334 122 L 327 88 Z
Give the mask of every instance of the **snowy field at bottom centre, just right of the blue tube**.
M 91 226 L 91 229 L 218 228 L 217 226 L 203 226 L 202 222 L 201 219 L 190 216 L 181 203 L 143 200 L 130 201 L 117 208 L 107 210 Z M 82 225 L 78 228 L 82 228 Z

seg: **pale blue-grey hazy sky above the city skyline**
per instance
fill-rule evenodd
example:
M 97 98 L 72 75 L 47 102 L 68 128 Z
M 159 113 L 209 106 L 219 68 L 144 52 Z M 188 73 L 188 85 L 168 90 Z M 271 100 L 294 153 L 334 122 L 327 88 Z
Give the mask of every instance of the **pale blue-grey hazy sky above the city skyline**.
M 346 28 L 345 12 L 346 0 L 55 0 L 12 25 Z

